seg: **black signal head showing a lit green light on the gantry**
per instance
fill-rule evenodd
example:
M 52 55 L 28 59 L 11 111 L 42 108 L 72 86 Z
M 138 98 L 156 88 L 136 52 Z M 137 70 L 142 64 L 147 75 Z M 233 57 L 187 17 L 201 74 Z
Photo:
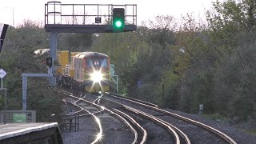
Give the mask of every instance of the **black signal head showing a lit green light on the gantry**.
M 114 8 L 113 9 L 113 27 L 115 32 L 122 32 L 125 26 L 125 9 Z

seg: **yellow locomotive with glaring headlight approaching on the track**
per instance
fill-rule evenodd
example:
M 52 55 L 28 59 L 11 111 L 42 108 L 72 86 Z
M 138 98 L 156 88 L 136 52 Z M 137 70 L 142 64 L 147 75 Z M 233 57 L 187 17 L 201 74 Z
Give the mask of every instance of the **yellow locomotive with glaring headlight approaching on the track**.
M 70 60 L 69 60 L 70 59 Z M 110 90 L 110 58 L 97 52 L 58 52 L 57 82 L 86 92 Z

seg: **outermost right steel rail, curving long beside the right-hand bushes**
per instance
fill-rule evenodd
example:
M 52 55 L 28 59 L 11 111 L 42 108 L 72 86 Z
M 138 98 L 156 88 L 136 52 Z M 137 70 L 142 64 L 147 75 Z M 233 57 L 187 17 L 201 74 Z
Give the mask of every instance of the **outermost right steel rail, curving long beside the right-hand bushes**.
M 232 138 L 230 138 L 228 135 L 222 133 L 220 130 L 217 130 L 211 126 L 207 126 L 206 124 L 202 123 L 202 122 L 197 122 L 193 119 L 190 119 L 190 118 L 186 118 L 186 117 L 183 117 L 181 115 L 178 115 L 178 114 L 174 114 L 174 113 L 171 113 L 170 111 L 167 111 L 167 110 L 162 110 L 162 109 L 159 109 L 157 107 L 154 107 L 154 106 L 148 106 L 146 104 L 143 104 L 143 103 L 140 103 L 140 102 L 135 102 L 133 100 L 127 100 L 127 101 L 130 101 L 130 102 L 134 102 L 134 103 L 137 103 L 138 105 L 141 105 L 141 106 L 145 106 L 145 107 L 148 107 L 152 110 L 156 110 L 158 112 L 161 112 L 163 114 L 168 114 L 170 116 L 173 116 L 175 118 L 179 118 L 179 119 L 182 119 L 183 121 L 186 121 L 186 122 L 190 122 L 190 123 L 193 123 L 194 125 L 197 125 L 197 126 L 200 126 L 206 130 L 210 130 L 210 132 L 214 133 L 214 134 L 217 134 L 219 137 L 223 138 L 224 140 L 226 140 L 226 142 L 229 142 L 230 144 L 237 144 L 236 142 L 234 142 L 234 140 Z

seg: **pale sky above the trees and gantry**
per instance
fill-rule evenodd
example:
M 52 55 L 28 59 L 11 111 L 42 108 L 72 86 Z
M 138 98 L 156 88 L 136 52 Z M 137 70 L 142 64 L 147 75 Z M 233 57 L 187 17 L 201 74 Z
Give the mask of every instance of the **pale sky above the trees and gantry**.
M 25 19 L 44 23 L 45 3 L 50 0 L 1 0 L 0 23 L 18 26 Z M 54 0 L 56 1 L 56 0 Z M 204 18 L 206 10 L 216 0 L 57 0 L 62 4 L 137 4 L 137 24 L 154 19 L 158 15 L 193 14 L 194 18 Z

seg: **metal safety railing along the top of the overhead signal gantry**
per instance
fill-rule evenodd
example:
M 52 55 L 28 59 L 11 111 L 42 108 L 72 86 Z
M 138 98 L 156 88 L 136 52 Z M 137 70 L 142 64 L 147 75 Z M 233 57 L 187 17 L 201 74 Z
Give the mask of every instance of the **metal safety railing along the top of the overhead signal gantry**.
M 135 4 L 62 4 L 62 2 L 45 4 L 45 25 L 110 25 L 113 8 L 124 8 L 126 25 L 137 25 Z M 101 22 L 97 22 L 97 18 L 100 18 Z

